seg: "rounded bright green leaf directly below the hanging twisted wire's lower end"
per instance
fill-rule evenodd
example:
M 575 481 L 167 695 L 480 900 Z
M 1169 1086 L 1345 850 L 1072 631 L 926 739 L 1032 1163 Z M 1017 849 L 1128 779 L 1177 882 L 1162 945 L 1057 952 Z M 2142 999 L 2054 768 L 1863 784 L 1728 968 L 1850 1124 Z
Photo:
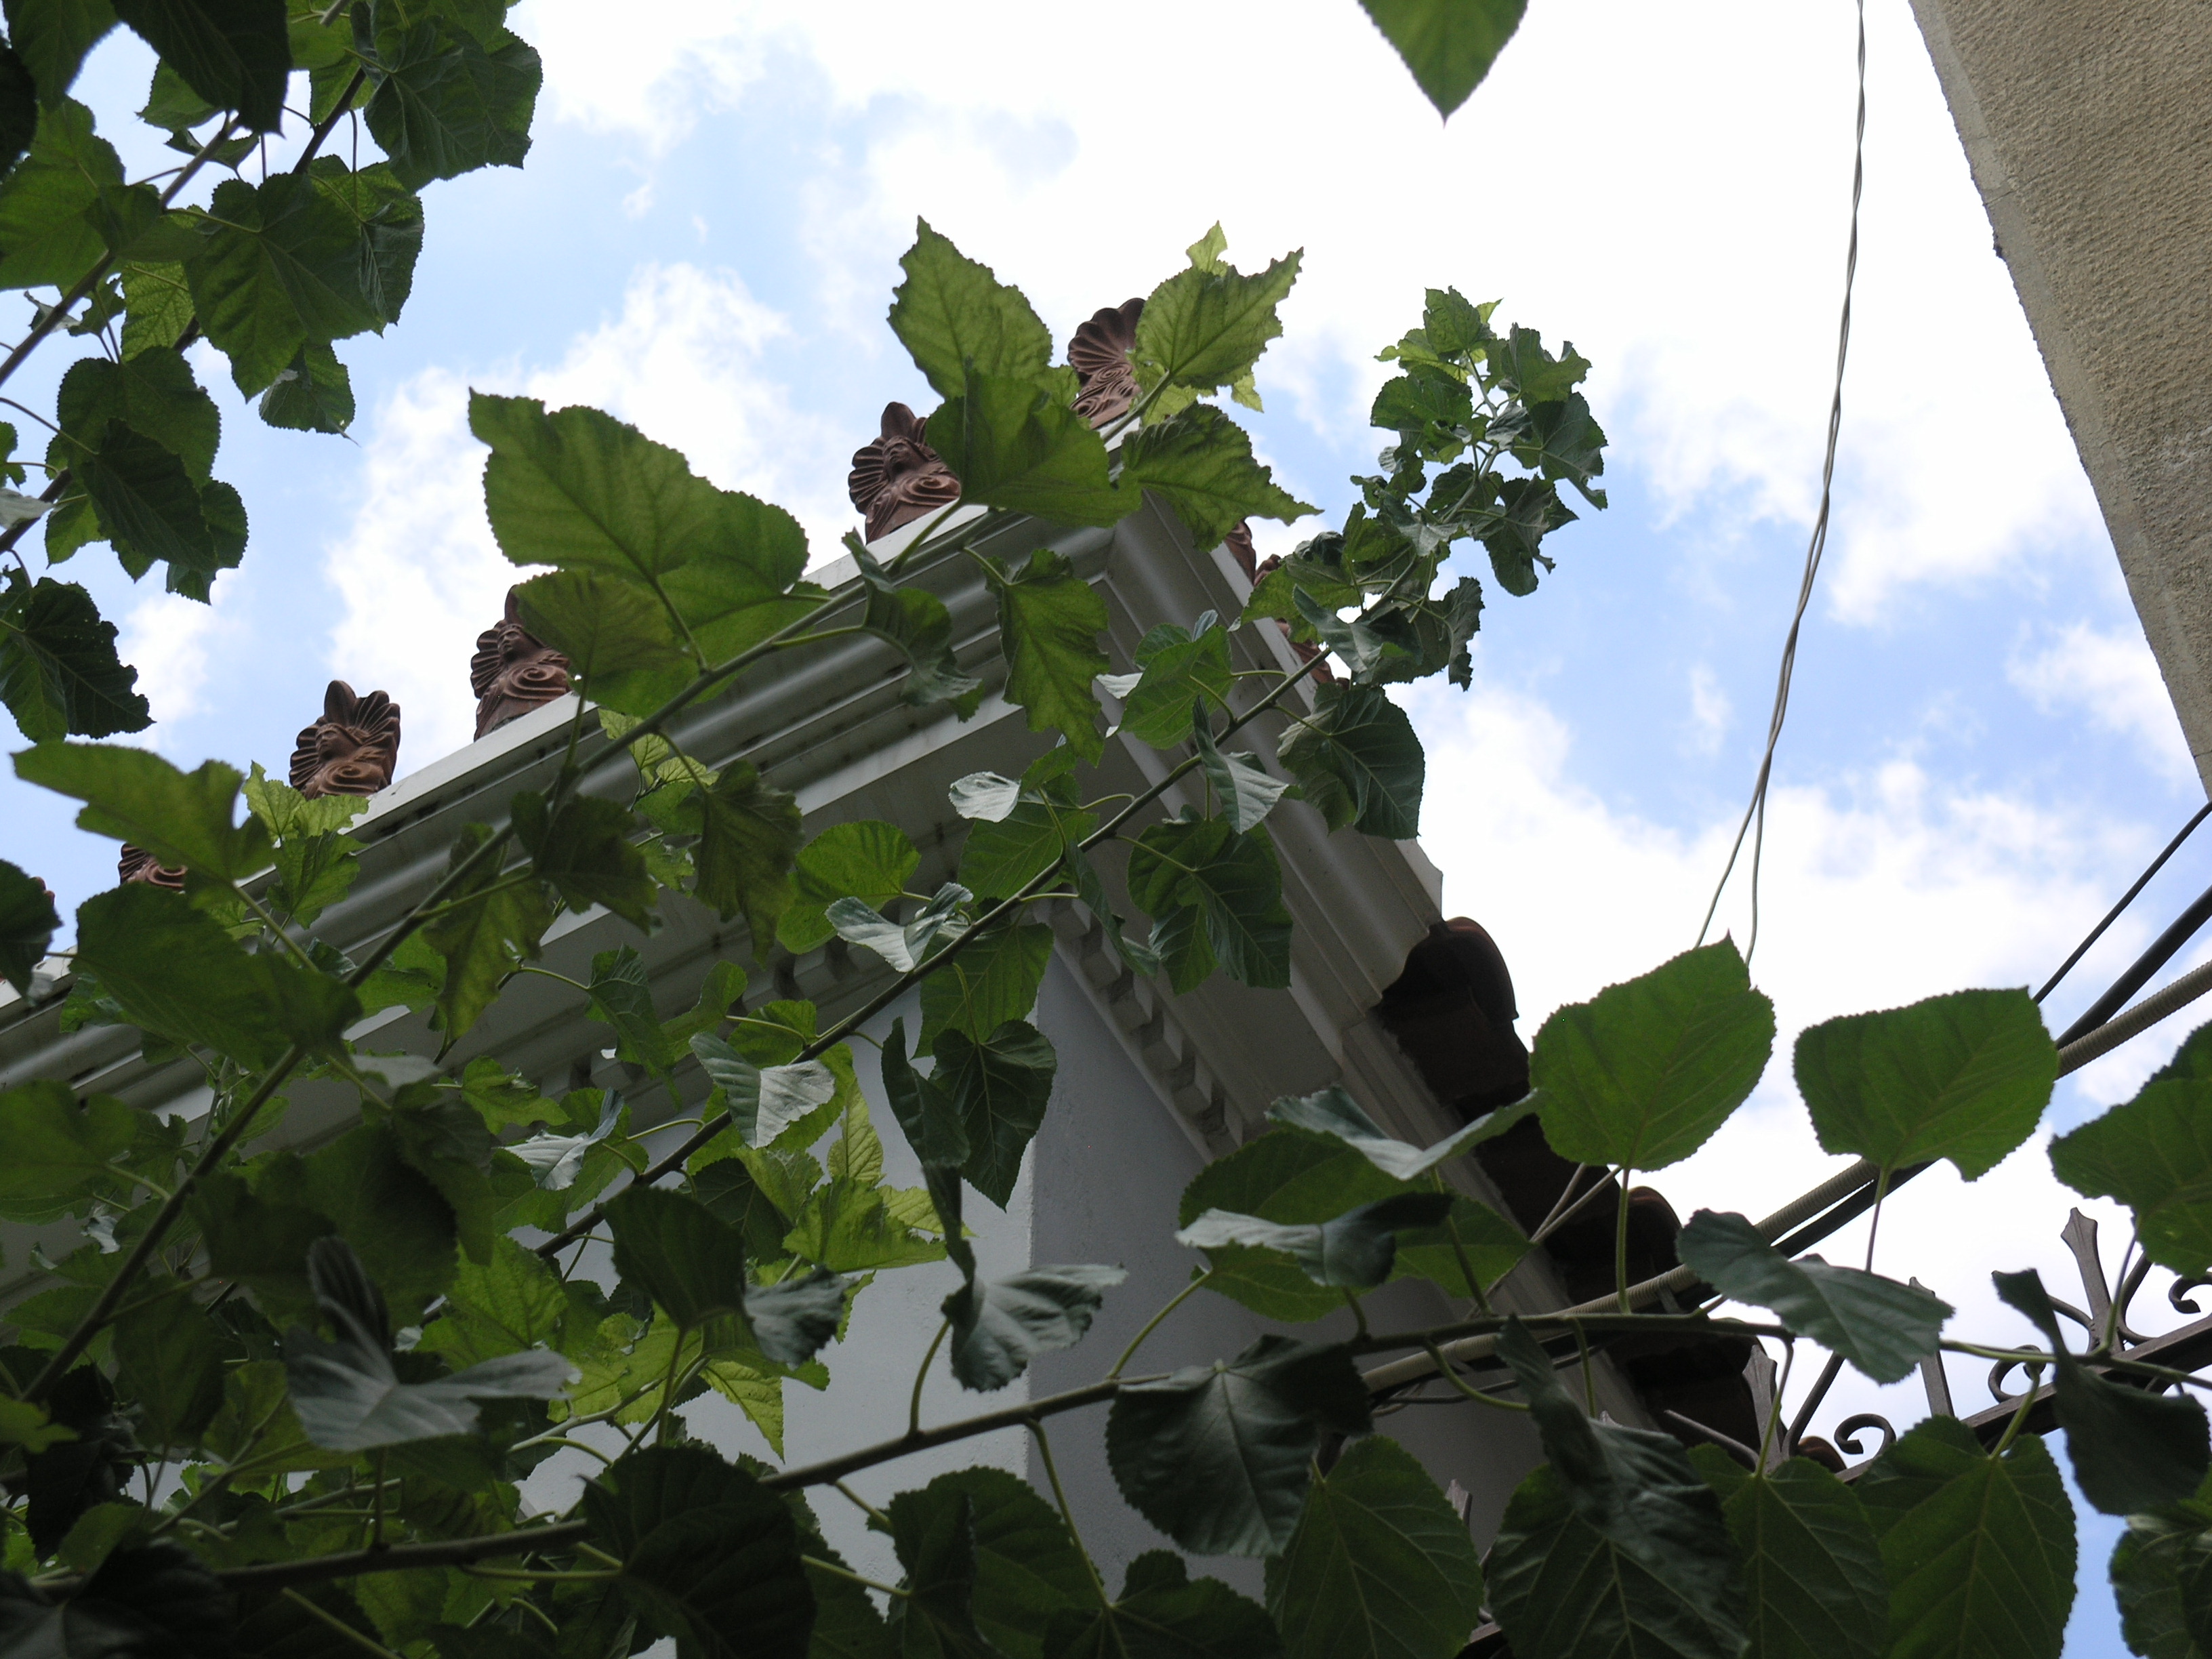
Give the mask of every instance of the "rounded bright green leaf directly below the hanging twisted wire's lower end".
M 1559 1009 L 1528 1079 L 1559 1157 L 1663 1170 L 1728 1121 L 1772 1051 L 1774 1004 L 1721 940 Z

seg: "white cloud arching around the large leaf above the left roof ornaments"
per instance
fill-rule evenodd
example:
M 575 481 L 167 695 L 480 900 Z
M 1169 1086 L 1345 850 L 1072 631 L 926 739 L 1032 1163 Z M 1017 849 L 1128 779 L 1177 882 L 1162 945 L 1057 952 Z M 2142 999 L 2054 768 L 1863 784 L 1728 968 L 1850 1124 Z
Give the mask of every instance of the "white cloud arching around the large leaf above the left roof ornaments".
M 635 420 L 717 484 L 796 504 L 823 557 L 852 513 L 834 487 L 843 476 L 825 484 L 803 465 L 825 442 L 818 422 L 794 414 L 759 372 L 761 349 L 781 332 L 730 272 L 646 265 L 619 316 L 575 338 L 555 367 L 487 369 L 473 380 Z M 400 701 L 403 772 L 471 741 L 469 655 L 520 580 L 484 520 L 484 451 L 469 436 L 467 389 L 458 374 L 427 369 L 376 414 L 361 509 L 327 560 L 345 602 L 334 672 Z

